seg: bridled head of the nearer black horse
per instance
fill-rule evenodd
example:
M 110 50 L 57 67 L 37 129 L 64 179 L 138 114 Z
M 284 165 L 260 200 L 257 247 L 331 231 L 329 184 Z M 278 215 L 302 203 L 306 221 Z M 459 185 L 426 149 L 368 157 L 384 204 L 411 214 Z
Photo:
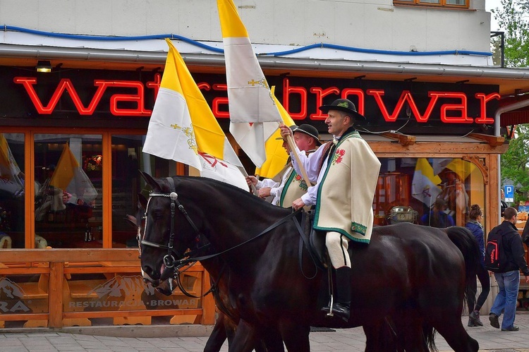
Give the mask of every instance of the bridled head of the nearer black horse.
M 179 194 L 186 193 L 178 178 L 153 178 L 140 171 L 152 187 L 142 207 L 145 216 L 138 227 L 142 277 L 154 287 L 174 276 L 181 261 L 204 241 L 204 214 L 193 202 L 182 205 Z M 138 215 L 136 216 L 136 221 Z

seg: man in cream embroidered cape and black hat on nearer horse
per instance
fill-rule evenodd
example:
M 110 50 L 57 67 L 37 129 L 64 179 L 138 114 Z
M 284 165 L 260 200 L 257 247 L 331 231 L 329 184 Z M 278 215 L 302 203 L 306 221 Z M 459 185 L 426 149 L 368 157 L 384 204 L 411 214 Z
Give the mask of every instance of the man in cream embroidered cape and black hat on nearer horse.
M 311 182 L 308 192 L 292 203 L 294 209 L 315 205 L 313 227 L 324 231 L 325 244 L 336 269 L 336 303 L 322 308 L 348 320 L 351 306 L 351 257 L 349 241 L 369 243 L 373 226 L 372 201 L 377 187 L 380 162 L 353 124 L 364 121 L 355 104 L 336 99 L 320 110 L 327 113 L 327 129 L 334 140 L 316 152 L 305 155 L 296 151 Z M 281 126 L 286 138 L 291 131 Z M 291 153 L 291 155 L 293 155 Z M 293 166 L 299 171 L 293 158 Z

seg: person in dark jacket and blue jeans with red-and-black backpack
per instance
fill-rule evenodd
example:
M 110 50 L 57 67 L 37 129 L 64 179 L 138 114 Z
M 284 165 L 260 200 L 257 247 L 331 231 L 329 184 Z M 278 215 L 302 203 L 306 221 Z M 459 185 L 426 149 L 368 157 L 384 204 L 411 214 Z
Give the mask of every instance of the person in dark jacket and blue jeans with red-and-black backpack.
M 504 312 L 502 332 L 517 332 L 520 329 L 514 324 L 520 270 L 525 275 L 525 282 L 529 284 L 529 268 L 525 262 L 523 243 L 515 226 L 516 221 L 518 212 L 513 207 L 508 207 L 504 221 L 487 236 L 485 250 L 485 268 L 494 272 L 499 289 L 490 308 L 489 320 L 492 327 L 499 329 L 498 319 L 501 312 Z

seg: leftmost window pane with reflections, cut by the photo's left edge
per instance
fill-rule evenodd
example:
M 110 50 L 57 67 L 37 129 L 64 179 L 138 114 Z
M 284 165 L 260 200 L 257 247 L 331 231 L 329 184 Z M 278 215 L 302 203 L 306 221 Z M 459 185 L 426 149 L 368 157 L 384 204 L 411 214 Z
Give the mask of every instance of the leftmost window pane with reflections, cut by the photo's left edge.
M 24 135 L 0 133 L 0 249 L 24 248 Z

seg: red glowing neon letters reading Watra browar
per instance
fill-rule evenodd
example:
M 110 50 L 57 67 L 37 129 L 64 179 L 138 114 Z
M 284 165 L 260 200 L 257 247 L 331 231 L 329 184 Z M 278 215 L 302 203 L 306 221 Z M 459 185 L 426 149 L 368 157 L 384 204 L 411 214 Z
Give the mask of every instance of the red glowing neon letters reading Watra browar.
M 52 114 L 56 108 L 59 99 L 66 92 L 69 97 L 72 99 L 72 102 L 75 106 L 75 109 L 78 110 L 80 115 L 92 115 L 94 114 L 97 105 L 101 101 L 104 93 L 109 88 L 132 88 L 135 90 L 135 94 L 123 94 L 118 93 L 111 95 L 109 111 L 114 116 L 150 116 L 152 111 L 145 108 L 145 90 L 152 89 L 154 92 L 154 99 L 156 99 L 160 83 L 161 75 L 159 73 L 154 74 L 154 80 L 145 83 L 145 86 L 141 81 L 137 80 L 94 80 L 94 86 L 97 87 L 96 92 L 92 96 L 90 102 L 85 106 L 81 101 L 78 92 L 75 90 L 73 83 L 68 78 L 63 78 L 59 81 L 54 94 L 49 99 L 47 104 L 44 104 L 42 100 L 38 97 L 37 92 L 35 91 L 35 85 L 37 85 L 37 78 L 34 77 L 15 77 L 13 82 L 20 84 L 24 87 L 25 91 L 28 93 L 28 96 L 31 99 L 31 102 L 37 112 L 42 115 Z M 197 84 L 200 90 L 212 90 L 217 92 L 226 92 L 226 84 L 209 84 L 201 82 Z M 389 111 L 387 104 L 384 102 L 384 95 L 386 90 L 382 89 L 367 89 L 365 92 L 359 88 L 346 87 L 340 90 L 338 87 L 310 87 L 307 90 L 305 87 L 296 87 L 291 85 L 288 78 L 283 79 L 283 106 L 291 115 L 294 120 L 303 120 L 307 118 L 308 115 L 308 95 L 315 95 L 315 107 L 312 111 L 316 111 L 314 114 L 308 116 L 311 120 L 322 120 L 325 119 L 326 114 L 323 114 L 319 107 L 322 106 L 323 100 L 326 97 L 331 97 L 336 95 L 337 97 L 352 99 L 357 103 L 357 109 L 360 114 L 365 114 L 365 99 L 366 95 L 372 97 L 375 100 L 375 104 L 378 111 L 370 111 L 370 113 L 377 112 L 382 115 L 384 121 L 395 122 L 399 115 L 401 114 L 402 109 L 405 106 L 409 107 L 410 116 L 413 115 L 416 121 L 419 123 L 426 123 L 436 107 L 437 103 L 442 103 L 443 99 L 451 99 L 450 104 L 442 104 L 439 108 L 439 116 L 442 122 L 444 123 L 494 123 L 494 119 L 490 116 L 487 116 L 487 104 L 492 102 L 494 99 L 499 99 L 500 96 L 498 93 L 475 93 L 473 98 L 478 100 L 480 106 L 480 115 L 476 118 L 468 116 L 468 97 L 464 92 L 441 92 L 441 91 L 430 91 L 428 92 L 428 97 L 430 101 L 428 102 L 427 107 L 424 111 L 420 111 L 413 93 L 409 90 L 403 90 L 401 96 L 399 97 L 393 111 Z M 300 102 L 299 111 L 291 111 L 290 102 L 291 95 L 298 95 L 298 100 Z M 352 97 L 352 98 L 351 98 Z M 454 99 L 458 101 L 454 104 Z M 127 102 L 133 103 L 135 108 L 133 109 L 124 109 L 118 107 L 120 103 Z M 297 104 L 296 104 L 297 105 Z M 212 111 L 214 116 L 219 119 L 229 119 L 228 111 L 228 97 L 214 97 L 212 99 Z

